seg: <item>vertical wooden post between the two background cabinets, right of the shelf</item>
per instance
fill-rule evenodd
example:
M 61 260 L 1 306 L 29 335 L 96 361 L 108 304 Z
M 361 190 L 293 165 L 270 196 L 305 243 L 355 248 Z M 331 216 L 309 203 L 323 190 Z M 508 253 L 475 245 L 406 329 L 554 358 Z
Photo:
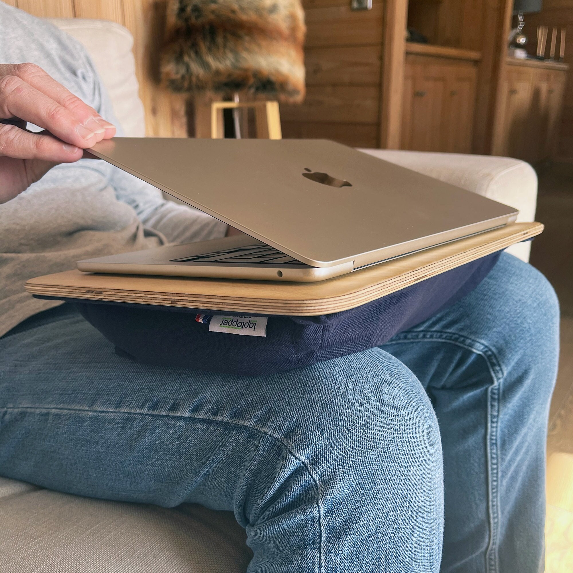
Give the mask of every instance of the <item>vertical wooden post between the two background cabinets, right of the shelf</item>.
M 476 121 L 473 130 L 473 152 L 497 155 L 494 142 L 500 125 L 503 105 L 503 81 L 507 58 L 507 37 L 511 26 L 513 0 L 484 2 L 481 18 L 481 63 L 478 69 Z

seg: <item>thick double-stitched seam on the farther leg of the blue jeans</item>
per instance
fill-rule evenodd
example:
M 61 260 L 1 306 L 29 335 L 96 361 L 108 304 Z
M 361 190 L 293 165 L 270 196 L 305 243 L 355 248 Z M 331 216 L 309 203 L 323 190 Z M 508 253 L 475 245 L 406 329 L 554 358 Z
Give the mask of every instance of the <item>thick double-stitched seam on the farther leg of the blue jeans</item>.
M 497 556 L 499 543 L 499 409 L 500 409 L 500 383 L 504 372 L 496 352 L 480 340 L 456 332 L 447 331 L 410 331 L 404 332 L 389 340 L 383 346 L 400 344 L 415 340 L 417 342 L 446 342 L 456 344 L 474 354 L 484 358 L 488 365 L 492 384 L 488 388 L 488 411 L 486 452 L 488 458 L 488 512 L 489 512 L 489 543 L 485 554 L 485 567 L 487 573 L 499 573 L 499 559 Z

